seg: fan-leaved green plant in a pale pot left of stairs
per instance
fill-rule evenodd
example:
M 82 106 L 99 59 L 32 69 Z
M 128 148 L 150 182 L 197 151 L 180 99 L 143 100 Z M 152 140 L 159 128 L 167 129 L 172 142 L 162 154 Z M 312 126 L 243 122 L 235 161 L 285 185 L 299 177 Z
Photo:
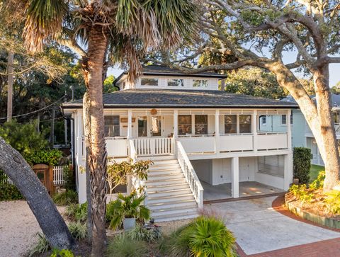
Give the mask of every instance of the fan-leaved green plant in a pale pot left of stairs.
M 117 200 L 109 202 L 106 211 L 106 219 L 110 222 L 110 228 L 115 229 L 123 223 L 124 229 L 132 229 L 136 225 L 136 219 L 145 221 L 150 217 L 150 210 L 142 205 L 145 195 L 137 196 L 134 191 L 130 195 L 118 194 Z

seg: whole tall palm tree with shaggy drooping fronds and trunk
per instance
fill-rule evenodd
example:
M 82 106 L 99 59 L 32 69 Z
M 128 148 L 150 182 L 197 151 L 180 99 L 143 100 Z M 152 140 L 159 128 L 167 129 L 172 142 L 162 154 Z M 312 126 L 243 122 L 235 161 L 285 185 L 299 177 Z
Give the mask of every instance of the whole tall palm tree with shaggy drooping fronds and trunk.
M 91 184 L 92 255 L 102 256 L 106 242 L 106 147 L 103 78 L 115 63 L 128 64 L 128 79 L 141 73 L 140 57 L 169 49 L 192 35 L 197 20 L 193 0 L 26 0 L 26 47 L 40 51 L 56 40 L 81 56 L 87 92 L 85 138 Z M 85 47 L 82 47 L 85 45 Z

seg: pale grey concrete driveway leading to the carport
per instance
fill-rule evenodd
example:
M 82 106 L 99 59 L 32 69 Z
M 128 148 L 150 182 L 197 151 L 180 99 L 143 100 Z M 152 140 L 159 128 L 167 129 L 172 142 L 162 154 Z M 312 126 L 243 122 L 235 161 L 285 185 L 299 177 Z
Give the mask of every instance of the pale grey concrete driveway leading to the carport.
M 276 197 L 205 205 L 225 218 L 225 224 L 247 255 L 340 238 L 339 232 L 299 222 L 273 210 Z

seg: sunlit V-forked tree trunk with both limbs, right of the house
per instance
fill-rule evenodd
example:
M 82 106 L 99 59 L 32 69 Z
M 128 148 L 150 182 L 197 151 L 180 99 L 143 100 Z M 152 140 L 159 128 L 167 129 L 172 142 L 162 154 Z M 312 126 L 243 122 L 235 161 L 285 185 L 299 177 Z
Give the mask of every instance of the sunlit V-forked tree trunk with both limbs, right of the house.
M 305 116 L 307 124 L 314 135 L 319 152 L 324 160 L 326 178 L 324 181 L 324 192 L 339 183 L 339 150 L 336 143 L 334 120 L 331 116 L 331 94 L 327 86 L 327 78 L 319 72 L 314 75 L 317 93 L 317 105 L 310 99 L 305 89 L 282 63 L 271 63 L 266 67 L 274 74 L 278 84 L 287 88 L 300 106 L 302 114 Z

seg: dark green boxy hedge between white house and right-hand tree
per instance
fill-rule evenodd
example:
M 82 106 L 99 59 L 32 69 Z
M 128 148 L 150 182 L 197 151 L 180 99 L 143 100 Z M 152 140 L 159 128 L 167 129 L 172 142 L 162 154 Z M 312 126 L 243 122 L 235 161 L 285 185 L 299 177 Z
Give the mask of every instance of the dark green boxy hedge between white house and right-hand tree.
M 294 147 L 293 171 L 294 178 L 298 178 L 302 184 L 310 181 L 310 159 L 312 153 L 306 147 Z

